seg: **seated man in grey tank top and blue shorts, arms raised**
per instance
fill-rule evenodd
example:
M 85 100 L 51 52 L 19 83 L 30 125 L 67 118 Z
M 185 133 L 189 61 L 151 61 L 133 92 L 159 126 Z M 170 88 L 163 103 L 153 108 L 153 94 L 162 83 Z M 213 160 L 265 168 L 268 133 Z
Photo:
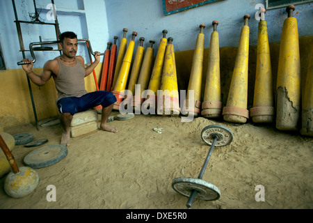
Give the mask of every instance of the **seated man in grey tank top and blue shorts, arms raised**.
M 56 105 L 61 114 L 61 123 L 63 126 L 63 134 L 61 144 L 70 145 L 70 123 L 73 115 L 77 112 L 83 112 L 87 109 L 102 105 L 102 120 L 100 129 L 109 132 L 118 132 L 106 124 L 109 115 L 113 108 L 113 103 L 116 101 L 113 93 L 109 91 L 95 91 L 88 93 L 85 89 L 84 78 L 90 75 L 100 61 L 99 52 L 95 52 L 95 62 L 87 68 L 84 66 L 82 56 L 77 54 L 77 35 L 73 32 L 64 32 L 60 36 L 60 42 L 63 47 L 62 56 L 58 56 L 53 60 L 45 63 L 41 75 L 36 75 L 33 68 L 33 61 L 23 59 L 26 63 L 22 66 L 26 75 L 31 81 L 42 86 L 46 84 L 51 77 L 54 78 L 58 98 Z

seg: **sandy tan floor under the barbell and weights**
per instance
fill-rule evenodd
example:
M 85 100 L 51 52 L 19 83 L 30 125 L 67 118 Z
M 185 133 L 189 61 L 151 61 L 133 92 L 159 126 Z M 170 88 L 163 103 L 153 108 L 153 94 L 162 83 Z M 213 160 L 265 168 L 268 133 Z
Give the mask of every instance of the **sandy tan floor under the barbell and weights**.
M 209 151 L 200 134 L 212 124 L 224 125 L 234 135 L 230 145 L 214 148 L 202 178 L 221 195 L 216 201 L 196 199 L 191 209 L 313 208 L 312 138 L 273 125 L 202 117 L 186 123 L 179 116 L 157 115 L 112 121 L 119 129 L 115 134 L 97 130 L 72 138 L 63 160 L 35 169 L 39 184 L 21 199 L 4 192 L 4 176 L 0 208 L 186 209 L 188 198 L 172 189 L 172 180 L 198 178 Z M 52 145 L 60 143 L 62 129 L 56 124 L 37 130 L 29 124 L 6 132 L 31 132 L 34 140 L 47 138 Z M 16 145 L 12 153 L 19 167 L 39 147 Z M 56 187 L 56 201 L 47 201 L 48 185 Z M 264 187 L 264 201 L 255 199 L 257 185 Z

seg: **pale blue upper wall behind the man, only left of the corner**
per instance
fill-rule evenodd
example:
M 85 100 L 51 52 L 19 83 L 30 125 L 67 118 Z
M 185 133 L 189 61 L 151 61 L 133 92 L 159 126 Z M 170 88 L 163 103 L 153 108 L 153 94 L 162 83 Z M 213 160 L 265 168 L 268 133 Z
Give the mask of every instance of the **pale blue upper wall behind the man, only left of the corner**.
M 40 21 L 54 23 L 54 20 L 49 21 L 47 14 L 51 8 L 47 9 L 50 0 L 36 0 L 38 13 L 40 13 Z M 93 47 L 93 51 L 104 52 L 106 43 L 109 41 L 109 33 L 107 29 L 106 10 L 104 0 L 55 0 L 56 13 L 60 30 L 74 31 L 78 38 L 88 38 Z M 17 16 L 19 20 L 31 21 L 29 13 L 34 13 L 35 9 L 31 0 L 15 0 L 17 8 Z M 3 52 L 4 61 L 7 69 L 21 68 L 17 66 L 17 61 L 22 59 L 22 52 L 19 52 L 19 39 L 15 26 L 15 15 L 13 3 L 10 0 L 0 1 L 0 41 Z M 42 36 L 42 41 L 56 40 L 54 26 L 38 25 L 38 24 L 21 24 L 24 47 L 29 49 L 29 43 L 39 42 L 39 36 Z M 53 45 L 57 49 L 56 45 Z M 89 56 L 86 45 L 79 45 L 79 55 L 82 55 L 89 63 Z M 36 63 L 35 68 L 42 68 L 45 61 L 54 59 L 60 53 L 56 52 L 35 52 Z M 26 52 L 26 57 L 31 58 L 29 52 Z

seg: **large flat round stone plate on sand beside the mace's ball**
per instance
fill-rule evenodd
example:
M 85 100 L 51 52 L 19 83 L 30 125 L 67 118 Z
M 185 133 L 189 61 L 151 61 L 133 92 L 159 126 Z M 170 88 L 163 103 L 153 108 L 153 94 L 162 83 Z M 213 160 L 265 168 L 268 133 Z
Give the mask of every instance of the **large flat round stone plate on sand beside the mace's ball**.
M 24 157 L 24 163 L 38 169 L 48 167 L 63 160 L 67 155 L 67 147 L 64 145 L 47 145 L 37 148 Z

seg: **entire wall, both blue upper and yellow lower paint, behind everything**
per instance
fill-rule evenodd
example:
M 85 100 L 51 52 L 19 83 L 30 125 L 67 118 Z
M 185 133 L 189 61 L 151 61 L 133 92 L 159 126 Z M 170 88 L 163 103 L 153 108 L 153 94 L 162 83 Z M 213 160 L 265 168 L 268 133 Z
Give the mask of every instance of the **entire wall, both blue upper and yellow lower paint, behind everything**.
M 36 3 L 42 8 L 40 17 L 46 20 L 45 9 L 49 0 L 37 0 Z M 33 1 L 15 0 L 19 14 L 19 20 L 29 20 L 29 13 L 33 13 Z M 177 62 L 177 77 L 179 89 L 186 89 L 191 70 L 195 39 L 199 33 L 199 25 L 205 24 L 204 35 L 206 36 L 204 52 L 204 74 L 207 66 L 207 52 L 209 48 L 209 36 L 211 35 L 213 20 L 218 20 L 218 32 L 220 36 L 221 56 L 221 79 L 223 91 L 223 103 L 227 99 L 227 92 L 232 77 L 236 47 L 239 43 L 240 30 L 243 26 L 243 15 L 250 14 L 250 61 L 249 61 L 249 91 L 253 92 L 255 76 L 255 49 L 257 45 L 257 26 L 255 20 L 255 8 L 258 3 L 265 5 L 265 1 L 251 0 L 221 0 L 209 3 L 198 8 L 192 8 L 181 13 L 168 16 L 163 15 L 162 2 L 156 0 L 55 0 L 58 13 L 58 21 L 61 31 L 75 31 L 79 38 L 89 38 L 93 50 L 104 52 L 106 43 L 113 41 L 113 36 L 122 38 L 122 29 L 129 29 L 128 40 L 131 32 L 137 31 L 136 45 L 139 37 L 145 37 L 144 47 L 149 45 L 149 40 L 156 40 L 154 52 L 157 52 L 161 31 L 168 30 L 168 37 L 174 38 L 175 57 Z M 294 16 L 298 20 L 300 38 L 301 69 L 305 73 L 309 52 L 307 47 L 311 44 L 313 36 L 313 3 L 304 3 L 296 6 Z M 29 86 L 24 71 L 17 66 L 17 61 L 22 59 L 19 52 L 19 42 L 15 27 L 12 1 L 0 1 L 0 41 L 3 51 L 6 71 L 0 71 L 0 123 L 4 128 L 26 123 L 34 123 L 33 108 L 29 94 Z M 277 8 L 266 12 L 268 22 L 268 38 L 271 42 L 272 69 L 274 75 L 277 72 L 278 49 L 282 31 L 282 23 L 287 17 L 285 8 Z M 26 25 L 23 31 L 24 43 L 37 42 L 39 36 L 42 40 L 54 39 L 54 31 L 37 25 Z M 119 41 L 118 41 L 119 45 Z M 80 47 L 79 54 L 83 55 L 86 63 L 89 63 L 85 46 Z M 135 52 L 135 51 L 134 51 Z M 36 52 L 38 61 L 35 63 L 35 72 L 40 74 L 42 66 L 47 59 L 58 56 L 58 52 Z M 29 57 L 29 54 L 26 53 Z M 97 81 L 101 74 L 102 64 L 95 69 Z M 203 75 L 203 78 L 205 75 Z M 204 86 L 202 86 L 202 89 Z M 55 100 L 56 89 L 51 79 L 45 86 L 38 87 L 31 83 L 35 108 L 38 120 L 56 116 L 58 114 Z M 87 91 L 95 91 L 93 74 L 86 77 Z M 249 96 L 249 105 L 252 97 Z

